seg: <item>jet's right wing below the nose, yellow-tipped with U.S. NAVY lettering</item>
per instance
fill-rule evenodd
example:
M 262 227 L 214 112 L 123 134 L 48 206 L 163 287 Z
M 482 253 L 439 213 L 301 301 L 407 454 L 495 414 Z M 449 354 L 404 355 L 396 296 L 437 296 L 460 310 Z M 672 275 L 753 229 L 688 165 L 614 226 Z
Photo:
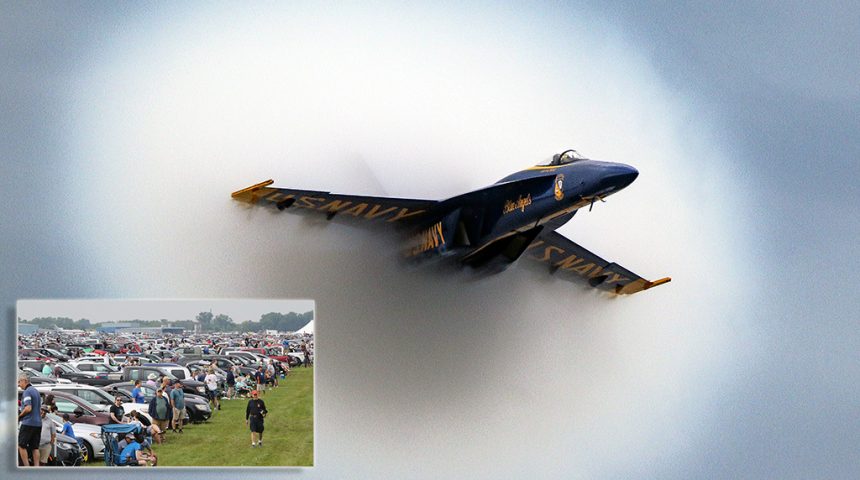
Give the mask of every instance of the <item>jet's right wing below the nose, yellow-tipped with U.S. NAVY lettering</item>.
M 540 234 L 523 256 L 546 264 L 555 275 L 620 295 L 648 290 L 672 280 L 666 277 L 648 281 L 552 231 Z

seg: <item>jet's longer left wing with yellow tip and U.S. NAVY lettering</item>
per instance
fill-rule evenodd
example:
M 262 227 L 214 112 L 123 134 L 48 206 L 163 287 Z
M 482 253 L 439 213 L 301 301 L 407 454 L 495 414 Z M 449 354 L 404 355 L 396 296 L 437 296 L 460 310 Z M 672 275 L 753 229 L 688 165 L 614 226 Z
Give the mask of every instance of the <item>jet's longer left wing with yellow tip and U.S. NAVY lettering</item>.
M 439 203 L 435 200 L 410 198 L 365 197 L 341 195 L 317 190 L 296 190 L 270 187 L 274 180 L 266 180 L 233 192 L 235 200 L 278 210 L 318 212 L 331 220 L 335 216 L 358 222 L 412 225 L 426 220 L 426 216 Z

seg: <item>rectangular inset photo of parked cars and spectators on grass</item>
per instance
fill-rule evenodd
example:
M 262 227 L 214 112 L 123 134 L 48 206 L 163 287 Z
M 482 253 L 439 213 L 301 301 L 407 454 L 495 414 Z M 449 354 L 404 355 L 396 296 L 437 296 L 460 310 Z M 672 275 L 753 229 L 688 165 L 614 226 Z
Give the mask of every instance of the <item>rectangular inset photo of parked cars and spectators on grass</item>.
M 19 468 L 311 467 L 313 300 L 19 300 Z

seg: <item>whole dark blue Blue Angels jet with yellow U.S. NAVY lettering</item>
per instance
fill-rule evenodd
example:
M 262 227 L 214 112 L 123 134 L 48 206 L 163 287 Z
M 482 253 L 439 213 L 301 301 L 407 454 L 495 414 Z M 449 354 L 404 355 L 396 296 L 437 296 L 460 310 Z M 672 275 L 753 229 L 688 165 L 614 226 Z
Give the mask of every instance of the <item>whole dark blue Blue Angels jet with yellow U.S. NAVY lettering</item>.
M 446 200 L 366 197 L 315 190 L 252 185 L 233 198 L 280 211 L 319 212 L 356 222 L 399 227 L 411 259 L 453 258 L 495 272 L 520 257 L 547 270 L 613 294 L 631 294 L 669 282 L 648 281 L 607 262 L 555 230 L 583 207 L 630 185 L 639 172 L 621 163 L 601 162 L 575 150 L 509 175 L 480 190 Z M 501 268 L 500 268 L 501 267 Z

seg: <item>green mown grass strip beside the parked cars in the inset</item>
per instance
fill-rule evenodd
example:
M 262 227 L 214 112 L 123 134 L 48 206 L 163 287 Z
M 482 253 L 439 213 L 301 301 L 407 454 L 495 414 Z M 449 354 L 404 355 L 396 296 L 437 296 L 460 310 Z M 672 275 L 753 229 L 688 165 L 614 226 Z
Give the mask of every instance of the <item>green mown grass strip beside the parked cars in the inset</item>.
M 221 410 L 185 432 L 167 433 L 154 445 L 158 466 L 273 467 L 312 466 L 314 457 L 313 375 L 311 368 L 294 368 L 278 388 L 260 398 L 266 402 L 263 447 L 251 448 L 245 425 L 246 399 L 222 400 Z

